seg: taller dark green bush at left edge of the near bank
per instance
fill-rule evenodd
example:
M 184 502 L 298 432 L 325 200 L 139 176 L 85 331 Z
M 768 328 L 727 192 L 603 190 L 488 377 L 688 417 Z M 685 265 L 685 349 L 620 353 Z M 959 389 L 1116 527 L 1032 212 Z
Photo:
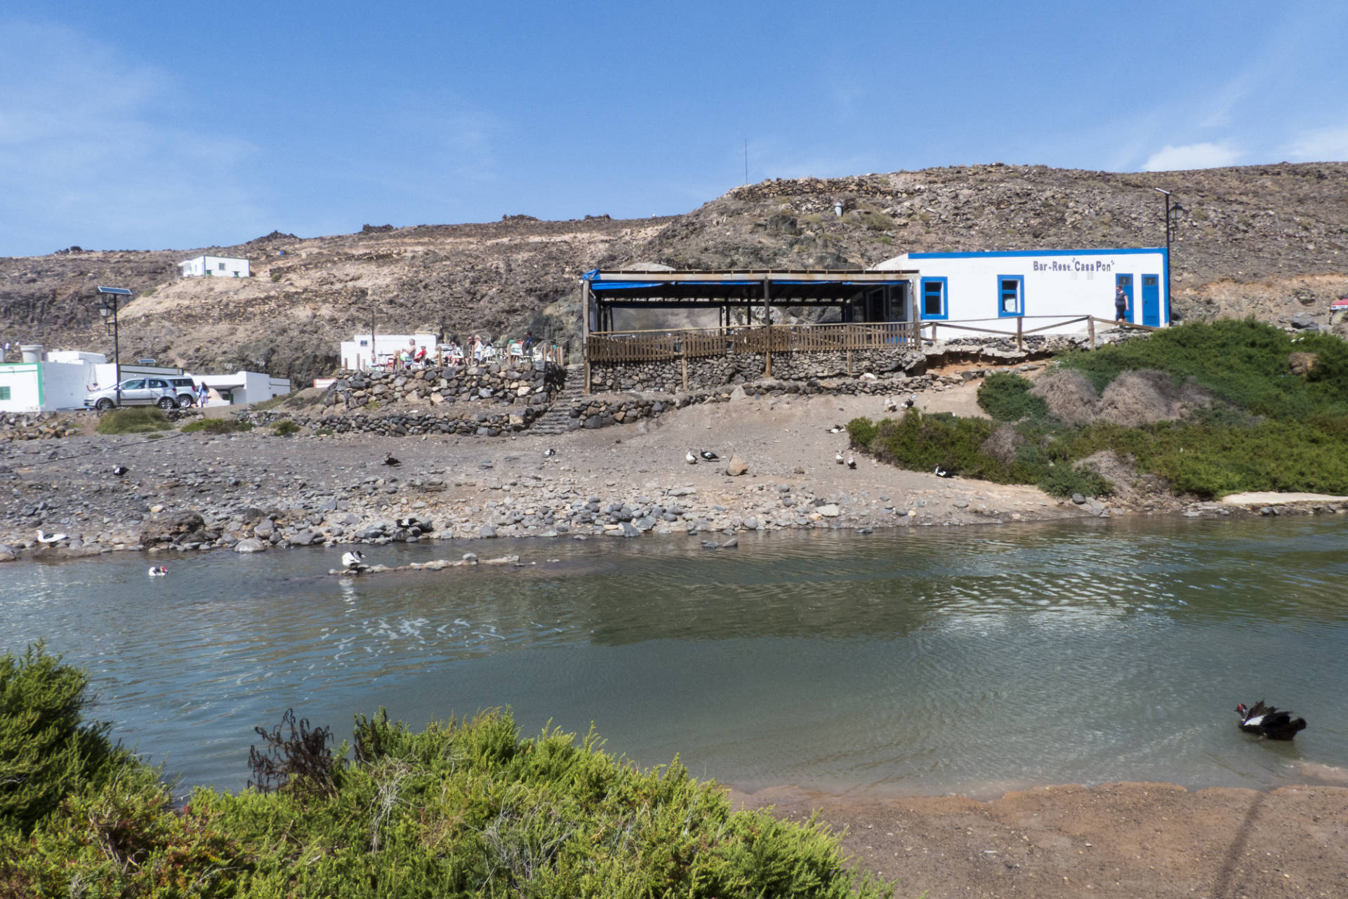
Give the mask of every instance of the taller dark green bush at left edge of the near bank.
M 70 793 L 101 782 L 121 752 L 84 722 L 89 675 L 42 643 L 0 656 L 0 830 L 27 833 Z

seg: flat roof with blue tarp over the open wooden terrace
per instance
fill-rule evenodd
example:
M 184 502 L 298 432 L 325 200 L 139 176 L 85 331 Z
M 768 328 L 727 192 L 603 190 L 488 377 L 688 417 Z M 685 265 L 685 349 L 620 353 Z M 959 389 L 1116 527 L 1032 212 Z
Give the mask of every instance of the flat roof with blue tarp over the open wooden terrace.
M 848 302 L 876 287 L 909 283 L 917 271 L 867 270 L 696 270 L 605 271 L 581 276 L 605 306 L 759 305 L 816 306 Z

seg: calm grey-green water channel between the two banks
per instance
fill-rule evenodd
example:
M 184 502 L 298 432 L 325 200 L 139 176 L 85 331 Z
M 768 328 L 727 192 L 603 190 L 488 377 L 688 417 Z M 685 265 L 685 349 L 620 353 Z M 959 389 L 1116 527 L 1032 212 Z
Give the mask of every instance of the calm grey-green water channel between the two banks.
M 371 562 L 453 555 L 381 547 Z M 481 551 L 483 545 L 470 549 Z M 239 787 L 287 706 L 348 732 L 510 705 L 643 766 L 745 788 L 1266 786 L 1348 767 L 1343 519 L 497 540 L 523 567 L 336 578 L 337 551 L 4 569 L 0 648 L 46 638 L 100 717 L 185 782 Z M 532 563 L 537 562 L 537 563 Z M 1291 705 L 1293 745 L 1237 733 Z

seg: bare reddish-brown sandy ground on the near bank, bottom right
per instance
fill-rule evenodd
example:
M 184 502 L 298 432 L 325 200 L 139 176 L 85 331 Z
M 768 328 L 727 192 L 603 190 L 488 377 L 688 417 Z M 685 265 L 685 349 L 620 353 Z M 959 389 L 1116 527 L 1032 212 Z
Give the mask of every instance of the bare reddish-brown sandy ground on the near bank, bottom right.
M 1055 786 L 992 802 L 848 801 L 768 790 L 745 807 L 847 828 L 844 849 L 895 896 L 1274 899 L 1348 896 L 1348 788 L 1185 791 Z

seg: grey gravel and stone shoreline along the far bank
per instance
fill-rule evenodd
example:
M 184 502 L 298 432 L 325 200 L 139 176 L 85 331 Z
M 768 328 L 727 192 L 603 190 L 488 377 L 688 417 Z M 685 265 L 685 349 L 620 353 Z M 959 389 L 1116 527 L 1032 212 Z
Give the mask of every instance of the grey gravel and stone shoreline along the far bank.
M 922 402 L 934 408 L 958 392 L 930 391 Z M 832 433 L 834 419 L 883 414 L 886 402 L 740 391 L 659 419 L 489 439 L 256 429 L 12 441 L 0 446 L 0 557 L 651 532 L 721 547 L 751 531 L 1348 511 L 1332 501 L 1244 509 L 1157 493 L 1057 500 L 1033 487 L 937 478 L 865 458 L 856 470 L 836 464 L 847 434 Z M 689 447 L 723 460 L 687 465 Z M 384 465 L 388 452 L 402 464 Z M 747 473 L 727 473 L 732 452 Z M 117 466 L 128 470 L 115 474 Z M 38 531 L 63 536 L 40 542 Z

